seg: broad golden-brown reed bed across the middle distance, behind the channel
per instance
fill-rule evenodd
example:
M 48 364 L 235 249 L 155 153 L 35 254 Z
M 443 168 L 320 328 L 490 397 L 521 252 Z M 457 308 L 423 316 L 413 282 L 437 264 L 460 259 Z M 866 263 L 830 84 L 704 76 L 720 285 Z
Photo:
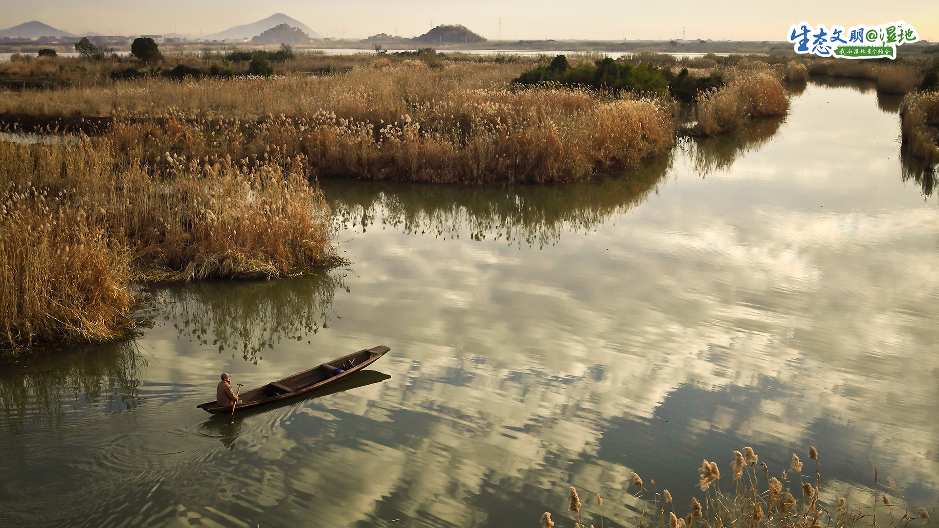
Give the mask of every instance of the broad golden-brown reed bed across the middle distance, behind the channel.
M 116 83 L 10 94 L 0 112 L 109 115 L 108 138 L 149 165 L 263 158 L 306 163 L 308 176 L 515 183 L 588 179 L 673 145 L 668 101 L 586 90 L 506 87 L 521 67 L 420 61 L 330 77 Z M 132 124 L 171 117 L 167 126 Z M 132 154 L 132 155 L 131 155 Z

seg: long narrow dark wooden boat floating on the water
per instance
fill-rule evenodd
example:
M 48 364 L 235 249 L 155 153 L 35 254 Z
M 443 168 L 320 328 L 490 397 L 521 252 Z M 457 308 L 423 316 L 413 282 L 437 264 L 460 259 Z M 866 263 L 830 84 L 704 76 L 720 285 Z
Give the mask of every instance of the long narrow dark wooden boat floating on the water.
M 317 365 L 309 370 L 304 370 L 300 374 L 288 376 L 283 380 L 271 381 L 263 387 L 243 392 L 239 395 L 240 401 L 235 405 L 235 411 L 242 409 L 252 409 L 266 403 L 281 401 L 288 397 L 300 396 L 302 394 L 315 391 L 320 387 L 325 387 L 332 382 L 342 380 L 349 374 L 362 370 L 362 368 L 372 365 L 378 358 L 385 355 L 390 350 L 388 347 L 379 346 L 374 349 L 363 349 L 351 353 L 331 362 Z M 224 414 L 232 412 L 231 405 L 219 405 L 215 401 L 200 403 L 196 407 L 213 414 Z

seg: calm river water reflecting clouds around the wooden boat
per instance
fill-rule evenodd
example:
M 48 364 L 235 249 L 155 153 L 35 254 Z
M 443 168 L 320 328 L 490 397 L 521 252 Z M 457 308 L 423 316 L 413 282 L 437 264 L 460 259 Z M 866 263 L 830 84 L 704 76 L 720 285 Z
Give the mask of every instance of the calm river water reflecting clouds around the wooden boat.
M 935 516 L 939 211 L 896 104 L 810 85 L 589 184 L 324 184 L 348 270 L 155 288 L 133 342 L 0 373 L 0 525 L 567 528 L 574 485 L 622 526 L 632 471 L 686 504 L 701 458 L 730 486 L 809 444 L 824 498 L 875 463 Z M 379 344 L 337 392 L 195 408 Z

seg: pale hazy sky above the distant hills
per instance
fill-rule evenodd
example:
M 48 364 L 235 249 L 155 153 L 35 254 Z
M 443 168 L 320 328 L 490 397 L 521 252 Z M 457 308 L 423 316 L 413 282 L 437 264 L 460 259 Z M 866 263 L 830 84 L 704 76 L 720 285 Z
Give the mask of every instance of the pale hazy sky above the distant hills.
M 0 29 L 38 20 L 71 33 L 206 35 L 283 12 L 327 37 L 420 35 L 431 23 L 462 23 L 487 39 L 782 40 L 790 24 L 879 24 L 899 20 L 939 39 L 934 0 L 0 0 Z M 501 20 L 501 25 L 500 25 Z

